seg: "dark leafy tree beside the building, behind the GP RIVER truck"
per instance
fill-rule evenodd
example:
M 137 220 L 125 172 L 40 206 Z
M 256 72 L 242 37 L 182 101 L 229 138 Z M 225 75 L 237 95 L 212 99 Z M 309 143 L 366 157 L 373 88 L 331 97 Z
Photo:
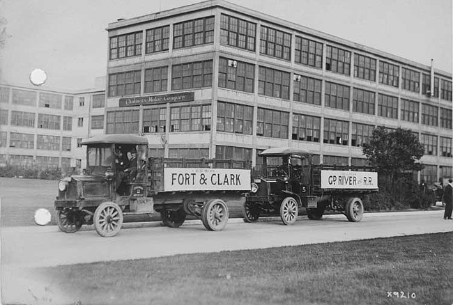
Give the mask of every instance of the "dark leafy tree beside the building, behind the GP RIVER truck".
M 423 165 L 417 161 L 424 155 L 424 147 L 410 130 L 387 130 L 378 126 L 373 130 L 369 143 L 362 148 L 372 166 L 378 172 L 394 180 L 396 173 L 420 171 Z

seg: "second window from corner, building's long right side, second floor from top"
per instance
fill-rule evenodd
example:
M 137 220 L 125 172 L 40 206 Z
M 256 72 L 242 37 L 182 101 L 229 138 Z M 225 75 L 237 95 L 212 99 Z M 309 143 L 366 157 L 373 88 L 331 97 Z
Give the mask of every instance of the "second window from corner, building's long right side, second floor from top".
M 289 72 L 259 67 L 258 94 L 289 100 Z

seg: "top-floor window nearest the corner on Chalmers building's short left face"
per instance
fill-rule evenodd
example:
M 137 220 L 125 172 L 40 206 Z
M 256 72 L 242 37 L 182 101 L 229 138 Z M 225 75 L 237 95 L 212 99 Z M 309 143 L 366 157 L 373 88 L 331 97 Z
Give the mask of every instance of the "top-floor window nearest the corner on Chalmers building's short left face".
M 214 17 L 205 17 L 174 24 L 173 48 L 204 45 L 214 41 Z

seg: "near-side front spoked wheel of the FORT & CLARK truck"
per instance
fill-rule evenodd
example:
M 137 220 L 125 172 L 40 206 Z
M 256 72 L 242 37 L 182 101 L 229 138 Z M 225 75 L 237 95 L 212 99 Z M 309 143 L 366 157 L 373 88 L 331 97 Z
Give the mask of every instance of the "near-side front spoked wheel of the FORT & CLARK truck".
M 94 212 L 93 223 L 99 235 L 112 237 L 121 229 L 123 212 L 116 203 L 101 203 Z

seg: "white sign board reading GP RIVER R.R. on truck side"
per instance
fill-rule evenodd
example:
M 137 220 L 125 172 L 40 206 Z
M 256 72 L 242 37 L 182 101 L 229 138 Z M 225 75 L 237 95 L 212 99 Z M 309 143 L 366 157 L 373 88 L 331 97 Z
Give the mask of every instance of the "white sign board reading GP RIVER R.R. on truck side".
M 321 189 L 378 189 L 378 173 L 321 171 Z

